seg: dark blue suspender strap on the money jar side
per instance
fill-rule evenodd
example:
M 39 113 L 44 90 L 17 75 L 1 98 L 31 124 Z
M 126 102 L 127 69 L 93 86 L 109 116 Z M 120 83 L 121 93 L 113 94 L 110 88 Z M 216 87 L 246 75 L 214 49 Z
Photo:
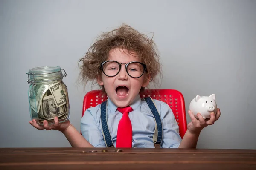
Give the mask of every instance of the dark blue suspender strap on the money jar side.
M 101 121 L 102 121 L 102 130 L 103 130 L 102 133 L 103 133 L 105 144 L 107 147 L 114 147 L 113 141 L 108 129 L 108 124 L 107 124 L 107 101 L 102 102 L 100 114 L 101 114 Z

